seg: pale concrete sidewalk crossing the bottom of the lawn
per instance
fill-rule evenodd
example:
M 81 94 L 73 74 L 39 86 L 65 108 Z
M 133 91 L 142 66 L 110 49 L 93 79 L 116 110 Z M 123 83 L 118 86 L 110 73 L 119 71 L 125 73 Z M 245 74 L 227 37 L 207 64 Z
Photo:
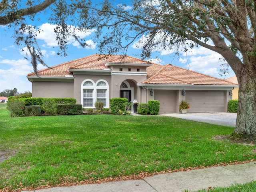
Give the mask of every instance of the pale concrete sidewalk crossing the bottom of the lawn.
M 34 192 L 182 192 L 184 190 L 197 191 L 209 187 L 230 186 L 235 183 L 242 184 L 252 180 L 256 180 L 256 161 L 159 174 L 142 180 L 56 187 L 35 190 Z

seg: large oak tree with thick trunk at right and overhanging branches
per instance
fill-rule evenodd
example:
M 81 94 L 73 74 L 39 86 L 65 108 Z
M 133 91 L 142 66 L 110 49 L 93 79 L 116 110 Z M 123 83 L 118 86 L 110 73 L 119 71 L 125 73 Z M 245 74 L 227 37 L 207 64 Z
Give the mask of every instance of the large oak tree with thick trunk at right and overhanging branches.
M 96 28 L 100 50 L 109 54 L 119 52 L 120 48 L 126 50 L 136 41 L 138 46 L 142 45 L 140 48 L 145 57 L 159 48 L 175 48 L 178 52 L 180 46 L 186 50 L 186 46 L 200 45 L 218 52 L 230 65 L 239 83 L 234 132 L 256 136 L 254 0 L 133 0 L 128 5 L 110 0 L 98 5 L 79 0 L 68 3 L 45 0 L 37 5 L 31 3 L 27 8 L 15 9 L 15 12 L 11 8 L 6 9 L 5 2 L 8 1 L 3 0 L 0 4 L 0 24 L 19 23 L 19 30 L 23 32 L 28 30 L 28 26 L 22 17 L 49 6 L 49 20 L 59 26 L 56 39 L 64 52 L 67 36 L 72 35 L 79 40 L 74 32 L 68 30 L 70 24 L 78 26 L 80 30 Z M 12 14 L 6 14 L 3 10 Z M 18 36 L 20 34 L 16 38 Z M 35 36 L 33 38 L 36 39 Z M 20 40 L 30 48 L 34 47 L 35 40 L 31 36 Z M 83 44 L 82 40 L 80 42 Z M 33 51 L 31 49 L 32 55 Z

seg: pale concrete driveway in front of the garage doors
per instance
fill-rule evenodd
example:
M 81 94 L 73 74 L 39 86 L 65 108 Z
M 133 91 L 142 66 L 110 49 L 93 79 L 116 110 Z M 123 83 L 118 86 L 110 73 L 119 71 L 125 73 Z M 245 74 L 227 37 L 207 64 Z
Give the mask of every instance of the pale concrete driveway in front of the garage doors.
M 171 116 L 176 118 L 206 122 L 217 125 L 224 125 L 235 127 L 236 126 L 236 113 L 227 113 L 227 112 L 217 112 L 217 113 L 187 113 L 187 114 L 178 114 L 178 113 L 165 113 L 159 114 L 164 116 Z

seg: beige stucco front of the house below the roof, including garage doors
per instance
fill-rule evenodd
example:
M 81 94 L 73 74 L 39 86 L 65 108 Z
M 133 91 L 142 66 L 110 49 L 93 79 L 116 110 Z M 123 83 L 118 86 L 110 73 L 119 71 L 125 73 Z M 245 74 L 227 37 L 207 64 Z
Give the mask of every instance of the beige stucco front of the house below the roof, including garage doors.
M 68 71 L 72 75 L 32 76 L 29 77 L 32 82 L 32 97 L 71 97 L 76 99 L 77 104 L 84 106 L 87 104 L 84 104 L 84 101 L 88 98 L 84 97 L 84 92 L 94 90 L 93 101 L 95 103 L 97 101 L 96 90 L 100 89 L 97 84 L 104 82 L 106 84 L 104 90 L 107 94 L 106 107 L 110 107 L 111 98 L 119 98 L 121 92 L 126 92 L 131 102 L 135 99 L 139 103 L 159 100 L 160 112 L 180 113 L 179 102 L 181 100 L 189 100 L 192 103 L 192 112 L 227 112 L 228 100 L 236 96 L 237 87 L 234 88 L 234 85 L 143 84 L 142 82 L 147 80 L 146 69 L 151 65 L 148 63 L 107 63 L 105 66 L 109 68 L 103 70 L 69 68 Z M 87 86 L 88 81 L 92 82 L 92 86 Z M 186 92 L 184 95 L 182 95 L 183 90 Z M 230 95 L 230 90 L 233 96 Z M 216 98 L 218 96 L 218 98 L 213 100 L 211 96 Z M 202 99 L 198 100 L 199 97 Z M 91 103 L 90 107 L 94 107 Z

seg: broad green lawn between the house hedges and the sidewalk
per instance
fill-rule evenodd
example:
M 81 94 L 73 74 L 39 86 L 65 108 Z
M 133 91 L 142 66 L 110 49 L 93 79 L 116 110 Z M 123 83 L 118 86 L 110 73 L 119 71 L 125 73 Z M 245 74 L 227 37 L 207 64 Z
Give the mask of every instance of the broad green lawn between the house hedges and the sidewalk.
M 54 185 L 256 159 L 255 146 L 217 141 L 234 128 L 167 116 L 37 116 L 0 110 L 0 188 Z

